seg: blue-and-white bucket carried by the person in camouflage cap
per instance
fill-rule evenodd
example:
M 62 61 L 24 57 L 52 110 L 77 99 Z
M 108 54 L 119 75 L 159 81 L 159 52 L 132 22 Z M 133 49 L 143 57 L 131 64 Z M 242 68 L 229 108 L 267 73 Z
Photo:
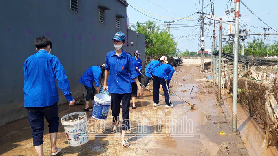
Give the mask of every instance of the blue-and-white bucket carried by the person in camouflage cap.
M 96 94 L 94 100 L 92 117 L 98 120 L 106 120 L 111 106 L 111 96 Z

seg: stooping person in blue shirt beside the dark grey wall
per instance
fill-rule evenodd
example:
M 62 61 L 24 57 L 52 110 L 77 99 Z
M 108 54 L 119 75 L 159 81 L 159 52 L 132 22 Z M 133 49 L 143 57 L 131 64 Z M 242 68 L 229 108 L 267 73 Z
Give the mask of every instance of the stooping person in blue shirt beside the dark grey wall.
M 83 75 L 80 77 L 79 82 L 82 83 L 87 91 L 86 95 L 86 105 L 84 108 L 84 111 L 93 111 L 92 107 L 94 106 L 94 94 L 95 94 L 95 88 L 93 86 L 93 83 L 96 82 L 96 92 L 99 94 L 99 86 L 100 84 L 103 85 L 101 79 L 104 79 L 105 72 L 105 64 L 100 67 L 97 66 L 91 66 L 89 67 Z M 92 107 L 89 107 L 89 101 L 92 101 Z

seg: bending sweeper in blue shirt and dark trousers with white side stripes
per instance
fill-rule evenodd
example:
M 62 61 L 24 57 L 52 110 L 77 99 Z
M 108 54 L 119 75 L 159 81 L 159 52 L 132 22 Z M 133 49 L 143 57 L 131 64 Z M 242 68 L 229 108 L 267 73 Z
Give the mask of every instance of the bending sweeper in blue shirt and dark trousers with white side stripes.
M 173 62 L 171 64 L 162 64 L 156 68 L 153 68 L 153 106 L 160 105 L 159 100 L 159 88 L 162 85 L 164 97 L 165 97 L 165 107 L 173 108 L 173 104 L 170 100 L 169 83 L 175 72 L 177 65 Z

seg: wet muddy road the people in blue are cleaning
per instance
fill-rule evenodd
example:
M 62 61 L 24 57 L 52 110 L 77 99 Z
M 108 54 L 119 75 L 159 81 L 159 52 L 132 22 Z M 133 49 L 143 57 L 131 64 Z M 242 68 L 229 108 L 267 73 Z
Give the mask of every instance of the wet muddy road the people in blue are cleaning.
M 205 61 L 210 61 L 209 59 Z M 229 155 L 239 155 L 233 143 L 235 135 L 226 123 L 214 124 L 215 121 L 225 121 L 225 116 L 216 99 L 215 88 L 204 88 L 202 81 L 195 81 L 206 77 L 198 70 L 200 60 L 184 60 L 178 66 L 181 72 L 174 73 L 173 80 L 188 88 L 194 86 L 191 96 L 186 88 L 171 82 L 170 90 L 194 103 L 198 109 L 191 110 L 188 104 L 171 94 L 174 107 L 165 108 L 164 97 L 160 97 L 160 106 L 153 107 L 153 95 L 145 90 L 142 99 L 136 99 L 136 109 L 130 108 L 130 127 L 127 140 L 129 148 L 120 145 L 121 133 L 110 133 L 111 111 L 104 121 L 88 116 L 89 142 L 82 146 L 69 146 L 63 125 L 59 126 L 57 146 L 62 149 L 58 156 L 90 156 L 90 155 L 224 155 L 219 151 L 222 142 L 230 142 Z M 153 84 L 153 82 L 151 82 Z M 152 90 L 152 89 L 151 89 Z M 184 91 L 187 90 L 187 91 Z M 162 91 L 162 89 L 160 89 Z M 163 94 L 163 91 L 160 92 Z M 79 110 L 84 106 L 78 105 Z M 67 104 L 59 106 L 59 117 L 68 114 Z M 70 112 L 77 111 L 71 107 Z M 120 119 L 122 114 L 120 113 Z M 0 127 L 0 155 L 36 155 L 32 142 L 32 129 L 26 118 Z M 118 127 L 119 131 L 119 127 Z M 220 135 L 224 131 L 226 135 Z M 228 135 L 227 135 L 228 134 Z M 44 153 L 50 154 L 50 136 L 45 121 Z

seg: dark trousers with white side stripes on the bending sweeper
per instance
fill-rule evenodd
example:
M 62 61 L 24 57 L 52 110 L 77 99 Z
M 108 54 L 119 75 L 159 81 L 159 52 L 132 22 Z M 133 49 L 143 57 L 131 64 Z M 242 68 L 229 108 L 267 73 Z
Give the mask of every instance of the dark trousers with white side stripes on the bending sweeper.
M 159 101 L 159 87 L 162 85 L 165 103 L 170 106 L 172 103 L 170 101 L 170 90 L 169 90 L 169 82 L 167 79 L 163 79 L 161 77 L 154 76 L 153 77 L 153 103 L 158 103 Z

